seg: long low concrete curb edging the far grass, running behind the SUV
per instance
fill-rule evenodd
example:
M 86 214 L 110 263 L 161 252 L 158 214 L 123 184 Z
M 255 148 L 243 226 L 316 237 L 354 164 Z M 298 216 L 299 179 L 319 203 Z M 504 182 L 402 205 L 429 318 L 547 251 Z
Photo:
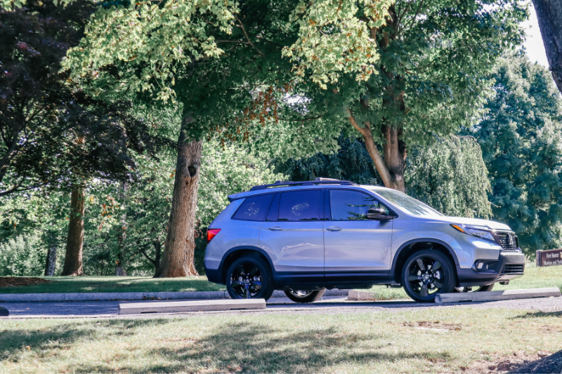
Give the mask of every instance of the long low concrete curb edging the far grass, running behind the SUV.
M 326 290 L 325 296 L 345 296 L 349 290 Z M 272 298 L 285 298 L 280 290 Z M 0 302 L 108 301 L 108 300 L 216 300 L 230 299 L 226 291 L 112 292 L 112 293 L 0 293 Z

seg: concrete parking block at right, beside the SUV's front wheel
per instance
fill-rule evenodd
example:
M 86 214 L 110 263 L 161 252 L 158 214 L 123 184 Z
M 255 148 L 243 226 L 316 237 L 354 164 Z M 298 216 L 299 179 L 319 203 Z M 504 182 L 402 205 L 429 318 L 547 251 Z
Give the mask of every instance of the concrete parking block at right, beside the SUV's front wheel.
M 551 288 L 530 288 L 528 290 L 504 290 L 486 292 L 466 292 L 466 293 L 442 293 L 435 298 L 436 303 L 462 302 L 462 301 L 499 301 L 530 298 L 549 298 L 560 297 L 560 289 Z

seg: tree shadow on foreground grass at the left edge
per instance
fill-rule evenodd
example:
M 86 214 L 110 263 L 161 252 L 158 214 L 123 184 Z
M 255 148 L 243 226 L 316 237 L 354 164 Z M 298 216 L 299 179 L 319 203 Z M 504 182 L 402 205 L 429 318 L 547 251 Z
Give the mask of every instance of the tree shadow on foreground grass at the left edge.
M 166 319 L 152 319 L 152 323 L 167 323 Z M 25 320 L 18 324 L 24 326 Z M 100 320 L 64 323 L 39 330 L 0 330 L 0 360 L 9 359 L 25 347 L 30 349 L 65 349 L 79 339 L 102 339 L 104 335 L 130 336 L 134 328 L 146 326 L 145 320 Z M 103 330 L 110 328 L 110 330 Z

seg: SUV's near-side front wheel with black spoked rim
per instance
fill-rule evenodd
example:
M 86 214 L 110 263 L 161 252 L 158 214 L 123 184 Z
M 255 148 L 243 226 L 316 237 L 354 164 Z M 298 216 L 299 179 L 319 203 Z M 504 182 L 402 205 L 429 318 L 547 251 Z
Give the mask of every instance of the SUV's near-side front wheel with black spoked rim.
M 412 254 L 400 278 L 408 296 L 417 302 L 435 302 L 437 295 L 450 293 L 457 285 L 455 266 L 446 255 L 433 249 Z

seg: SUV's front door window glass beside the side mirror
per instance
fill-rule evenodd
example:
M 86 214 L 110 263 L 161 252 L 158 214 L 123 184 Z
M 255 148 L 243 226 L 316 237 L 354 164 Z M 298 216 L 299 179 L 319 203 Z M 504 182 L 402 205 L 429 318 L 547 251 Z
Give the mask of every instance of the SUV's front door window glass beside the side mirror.
M 388 209 L 374 197 L 345 189 L 330 190 L 329 206 L 332 221 L 369 220 L 367 211 L 371 208 L 383 208 L 384 214 L 390 215 Z

